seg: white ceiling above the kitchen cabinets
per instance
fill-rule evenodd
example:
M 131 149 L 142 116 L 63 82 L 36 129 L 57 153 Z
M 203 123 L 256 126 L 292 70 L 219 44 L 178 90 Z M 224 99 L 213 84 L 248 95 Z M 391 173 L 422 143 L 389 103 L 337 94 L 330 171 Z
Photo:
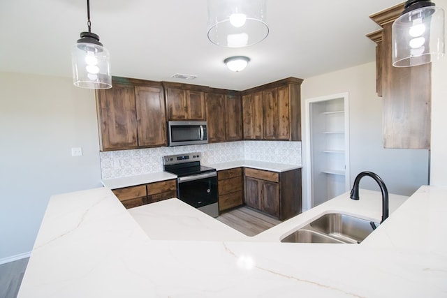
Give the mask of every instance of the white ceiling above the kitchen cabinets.
M 91 31 L 110 52 L 112 75 L 243 90 L 374 61 L 365 34 L 379 26 L 368 16 L 401 2 L 268 0 L 268 37 L 239 49 L 207 40 L 206 0 L 90 0 Z M 71 77 L 87 1 L 1 1 L 0 28 L 0 71 Z M 235 55 L 251 59 L 240 73 L 223 64 Z

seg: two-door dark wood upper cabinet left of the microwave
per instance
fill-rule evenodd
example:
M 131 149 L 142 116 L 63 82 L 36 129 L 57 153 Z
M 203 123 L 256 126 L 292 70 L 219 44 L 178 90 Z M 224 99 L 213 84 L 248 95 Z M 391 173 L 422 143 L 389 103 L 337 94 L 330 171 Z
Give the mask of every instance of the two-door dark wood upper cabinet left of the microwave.
M 124 77 L 96 91 L 101 151 L 166 145 L 163 87 Z

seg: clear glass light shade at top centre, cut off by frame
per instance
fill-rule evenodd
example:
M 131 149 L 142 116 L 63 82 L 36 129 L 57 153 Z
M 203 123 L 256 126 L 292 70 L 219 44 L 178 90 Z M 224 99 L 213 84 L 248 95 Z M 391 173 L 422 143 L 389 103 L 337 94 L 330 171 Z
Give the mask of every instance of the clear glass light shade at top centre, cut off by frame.
M 247 47 L 268 36 L 265 0 L 208 0 L 208 39 L 221 47 Z

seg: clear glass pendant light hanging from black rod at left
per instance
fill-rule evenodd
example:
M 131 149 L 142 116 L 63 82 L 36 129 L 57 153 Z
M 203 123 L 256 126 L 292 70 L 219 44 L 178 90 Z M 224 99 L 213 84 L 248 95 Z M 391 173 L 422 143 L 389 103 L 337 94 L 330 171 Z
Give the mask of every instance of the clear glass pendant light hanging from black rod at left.
M 78 43 L 71 50 L 73 84 L 87 89 L 112 88 L 110 57 L 108 50 L 99 42 L 99 36 L 91 32 L 90 2 L 87 0 L 88 32 L 81 32 Z

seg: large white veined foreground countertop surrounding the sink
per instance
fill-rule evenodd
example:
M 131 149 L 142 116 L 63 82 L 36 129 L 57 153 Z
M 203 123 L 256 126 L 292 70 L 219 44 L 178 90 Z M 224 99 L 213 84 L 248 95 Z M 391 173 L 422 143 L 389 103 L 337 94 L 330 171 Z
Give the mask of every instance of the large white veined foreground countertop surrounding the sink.
M 321 213 L 380 218 L 380 193 L 345 193 L 256 237 L 177 199 L 139 213 L 108 188 L 54 195 L 18 297 L 446 297 L 446 197 L 431 186 L 392 195 L 390 217 L 361 244 L 293 244 L 279 239 Z M 151 228 L 145 212 L 159 218 Z

